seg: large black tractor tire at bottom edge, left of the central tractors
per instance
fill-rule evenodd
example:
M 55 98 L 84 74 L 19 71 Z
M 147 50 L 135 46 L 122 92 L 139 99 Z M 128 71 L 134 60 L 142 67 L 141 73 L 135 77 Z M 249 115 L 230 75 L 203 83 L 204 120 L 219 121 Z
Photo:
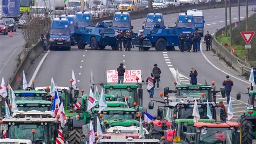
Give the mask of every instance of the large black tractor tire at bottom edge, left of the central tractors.
M 82 129 L 74 128 L 73 131 L 69 133 L 68 142 L 70 144 L 80 143 L 81 136 L 83 135 Z

